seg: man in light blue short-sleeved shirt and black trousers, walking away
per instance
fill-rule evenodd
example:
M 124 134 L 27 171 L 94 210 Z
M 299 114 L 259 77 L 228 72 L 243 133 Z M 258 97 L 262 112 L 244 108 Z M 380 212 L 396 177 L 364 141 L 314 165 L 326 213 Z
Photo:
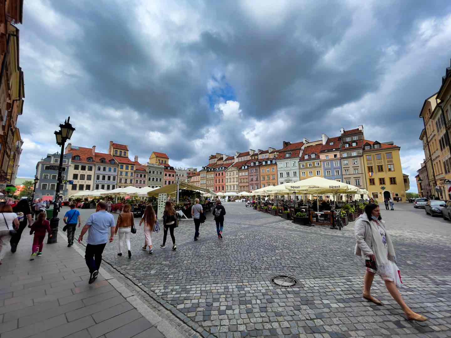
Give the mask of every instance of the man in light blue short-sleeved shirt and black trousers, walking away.
M 85 260 L 91 274 L 89 284 L 92 284 L 99 274 L 103 249 L 108 242 L 108 234 L 110 234 L 110 243 L 114 240 L 114 217 L 106 211 L 104 201 L 97 203 L 96 212 L 89 216 L 85 226 L 83 226 L 80 237 L 78 237 L 78 243 L 83 241 L 83 235 L 87 231 Z

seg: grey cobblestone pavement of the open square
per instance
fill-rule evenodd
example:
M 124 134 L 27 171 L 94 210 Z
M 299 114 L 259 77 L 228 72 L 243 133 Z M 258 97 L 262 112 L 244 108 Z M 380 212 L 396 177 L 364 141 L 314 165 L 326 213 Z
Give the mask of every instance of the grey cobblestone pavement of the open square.
M 162 231 L 152 236 L 155 252 L 142 251 L 138 227 L 131 259 L 117 256 L 117 241 L 104 259 L 203 337 L 451 337 L 451 222 L 408 203 L 382 210 L 401 293 L 430 319 L 416 323 L 405 320 L 377 277 L 372 291 L 384 306 L 361 297 L 364 261 L 354 256 L 354 222 L 342 231 L 305 227 L 242 203 L 224 206 L 223 240 L 210 215 L 197 242 L 193 221 L 180 222 L 176 251 L 169 236 L 159 247 Z M 91 212 L 83 210 L 82 218 Z M 297 284 L 276 286 L 276 275 Z

